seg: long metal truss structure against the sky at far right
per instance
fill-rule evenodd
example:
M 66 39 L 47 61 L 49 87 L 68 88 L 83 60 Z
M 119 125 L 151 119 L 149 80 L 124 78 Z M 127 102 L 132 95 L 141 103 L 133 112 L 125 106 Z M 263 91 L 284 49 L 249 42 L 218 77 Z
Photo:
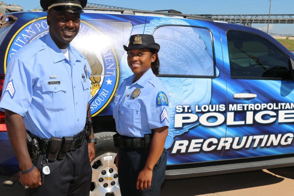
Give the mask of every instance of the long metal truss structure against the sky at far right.
M 294 14 L 271 14 L 268 18 L 268 14 L 248 14 L 248 15 L 209 15 L 203 14 L 213 19 L 214 21 L 228 22 L 228 23 L 240 23 L 240 24 L 252 24 L 252 23 L 294 23 Z

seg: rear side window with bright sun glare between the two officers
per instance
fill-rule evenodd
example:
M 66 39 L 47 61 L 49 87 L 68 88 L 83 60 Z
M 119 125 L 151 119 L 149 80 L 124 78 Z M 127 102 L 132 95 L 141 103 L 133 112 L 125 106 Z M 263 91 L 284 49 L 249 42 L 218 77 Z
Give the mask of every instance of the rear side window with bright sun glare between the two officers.
M 118 62 L 121 60 L 125 52 L 123 45 L 128 43 L 132 28 L 130 22 L 81 21 L 80 31 L 72 44 L 87 58 L 93 83 L 99 83 L 101 76 L 113 74 L 105 67 L 112 66 L 115 57 Z M 113 68 L 116 70 L 116 67 Z

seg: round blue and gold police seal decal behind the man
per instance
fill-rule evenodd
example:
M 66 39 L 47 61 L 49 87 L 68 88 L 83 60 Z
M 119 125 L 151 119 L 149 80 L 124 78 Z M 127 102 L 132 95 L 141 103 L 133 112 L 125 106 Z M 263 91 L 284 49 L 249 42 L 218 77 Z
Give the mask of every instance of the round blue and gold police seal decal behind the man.
M 22 26 L 8 44 L 4 57 L 4 72 L 6 73 L 6 66 L 16 51 L 48 32 L 46 17 L 32 20 Z M 118 85 L 119 68 L 116 53 L 109 43 L 103 42 L 106 39 L 104 37 L 105 35 L 95 26 L 81 21 L 80 31 L 71 42 L 71 45 L 86 57 L 91 67 L 92 75 L 89 79 L 92 84 L 92 116 L 100 113 L 110 103 Z

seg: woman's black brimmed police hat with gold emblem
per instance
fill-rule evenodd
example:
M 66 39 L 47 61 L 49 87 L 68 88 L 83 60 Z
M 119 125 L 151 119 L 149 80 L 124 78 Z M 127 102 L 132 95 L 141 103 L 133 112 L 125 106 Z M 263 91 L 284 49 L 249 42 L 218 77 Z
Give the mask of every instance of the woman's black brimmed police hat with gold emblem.
M 154 49 L 156 51 L 159 51 L 160 46 L 158 43 L 155 43 L 154 37 L 152 35 L 137 34 L 132 35 L 128 47 L 123 45 L 123 48 L 125 49 L 125 51 L 142 48 Z

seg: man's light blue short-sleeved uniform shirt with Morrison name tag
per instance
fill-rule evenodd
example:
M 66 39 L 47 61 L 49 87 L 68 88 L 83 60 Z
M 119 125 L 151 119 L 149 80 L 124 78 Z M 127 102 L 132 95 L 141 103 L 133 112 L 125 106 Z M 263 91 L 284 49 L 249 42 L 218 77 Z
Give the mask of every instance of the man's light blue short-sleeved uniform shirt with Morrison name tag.
M 91 68 L 68 49 L 70 61 L 48 33 L 19 49 L 7 66 L 0 108 L 23 116 L 26 129 L 42 138 L 74 136 L 85 127 Z

